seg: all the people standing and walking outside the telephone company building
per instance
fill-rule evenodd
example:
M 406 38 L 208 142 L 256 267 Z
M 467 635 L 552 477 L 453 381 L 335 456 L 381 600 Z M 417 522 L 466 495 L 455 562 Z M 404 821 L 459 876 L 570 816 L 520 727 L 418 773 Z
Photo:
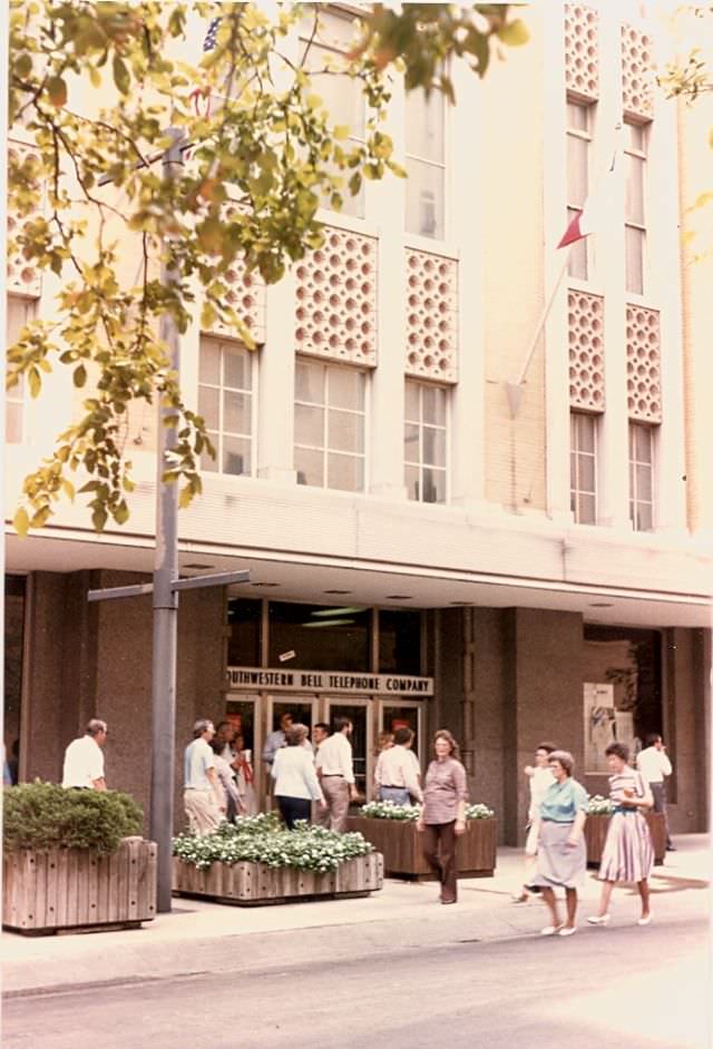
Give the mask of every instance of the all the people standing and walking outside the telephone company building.
M 262 756 L 273 796 L 290 830 L 297 821 L 311 818 L 313 803 L 319 824 L 340 833 L 346 829 L 350 802 L 359 796 L 352 732 L 350 718 L 338 717 L 333 731 L 324 723 L 316 724 L 311 742 L 306 725 L 295 724 L 286 713 L 267 737 Z M 92 718 L 85 735 L 69 744 L 62 786 L 107 788 L 102 753 L 107 735 L 106 722 Z M 208 834 L 223 820 L 255 814 L 258 805 L 251 753 L 245 751 L 240 732 L 229 722 L 221 722 L 216 728 L 208 718 L 199 718 L 193 736 L 184 754 L 184 808 L 192 832 Z M 652 921 L 648 878 L 654 850 L 644 813 L 653 808 L 665 817 L 665 778 L 673 769 L 661 735 L 654 734 L 646 742 L 637 756 L 637 768 L 629 764 L 624 744 L 612 743 L 606 748 L 612 818 L 598 872 L 599 908 L 587 919 L 593 925 L 608 923 L 617 882 L 636 883 L 642 903 L 638 924 Z M 456 903 L 456 843 L 466 830 L 468 801 L 466 769 L 456 739 L 447 729 L 440 729 L 433 737 L 433 759 L 421 784 L 412 744 L 413 732 L 408 727 L 397 728 L 381 739 L 374 785 L 381 801 L 421 805 L 417 829 L 423 835 L 423 855 L 440 883 L 441 903 Z M 569 937 L 576 931 L 577 890 L 587 864 L 584 826 L 588 795 L 574 778 L 572 754 L 551 743 L 539 744 L 535 764 L 526 766 L 525 775 L 530 786 L 526 876 L 514 900 L 526 902 L 531 893 L 541 893 L 550 916 L 541 934 Z M 667 821 L 666 847 L 674 847 Z M 565 893 L 564 920 L 557 889 Z

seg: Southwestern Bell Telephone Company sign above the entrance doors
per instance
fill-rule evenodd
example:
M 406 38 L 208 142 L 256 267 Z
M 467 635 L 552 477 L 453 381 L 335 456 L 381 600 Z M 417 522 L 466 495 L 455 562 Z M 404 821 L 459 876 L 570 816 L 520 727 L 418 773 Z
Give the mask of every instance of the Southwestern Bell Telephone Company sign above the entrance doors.
M 270 692 L 372 693 L 378 696 L 432 696 L 432 677 L 404 674 L 345 674 L 333 670 L 263 669 L 228 667 L 229 688 L 262 688 Z

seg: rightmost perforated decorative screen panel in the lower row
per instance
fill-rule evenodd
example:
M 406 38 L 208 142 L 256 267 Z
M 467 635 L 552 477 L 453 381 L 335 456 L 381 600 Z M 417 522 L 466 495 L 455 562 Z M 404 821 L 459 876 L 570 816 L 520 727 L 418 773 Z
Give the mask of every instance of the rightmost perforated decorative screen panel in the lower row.
M 658 311 L 626 307 L 626 396 L 629 419 L 661 422 Z

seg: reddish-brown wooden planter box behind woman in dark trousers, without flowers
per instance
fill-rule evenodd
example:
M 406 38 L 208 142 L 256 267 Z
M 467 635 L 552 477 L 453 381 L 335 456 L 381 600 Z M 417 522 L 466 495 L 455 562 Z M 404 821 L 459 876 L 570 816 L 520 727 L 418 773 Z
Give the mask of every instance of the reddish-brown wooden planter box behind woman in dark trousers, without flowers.
M 370 820 L 350 816 L 350 831 L 360 831 L 383 855 L 384 872 L 395 878 L 432 879 L 423 859 L 422 834 L 407 820 Z M 490 878 L 496 864 L 497 820 L 468 820 L 458 839 L 456 856 L 459 878 Z

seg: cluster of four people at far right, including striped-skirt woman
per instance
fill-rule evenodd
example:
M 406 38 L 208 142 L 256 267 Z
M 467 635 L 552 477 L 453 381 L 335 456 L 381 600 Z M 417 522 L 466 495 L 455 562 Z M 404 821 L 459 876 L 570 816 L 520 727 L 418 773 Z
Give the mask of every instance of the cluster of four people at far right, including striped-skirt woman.
M 652 921 L 648 878 L 654 864 L 654 849 L 644 813 L 653 808 L 665 816 L 665 781 L 671 775 L 663 739 L 654 734 L 637 758 L 637 768 L 629 764 L 629 751 L 622 743 L 606 748 L 609 776 L 612 818 L 602 853 L 598 879 L 602 894 L 596 914 L 587 921 L 593 925 L 609 922 L 609 902 L 617 882 L 634 882 L 641 896 L 639 925 Z M 531 892 L 539 892 L 548 908 L 550 922 L 543 935 L 569 937 L 576 931 L 577 889 L 587 865 L 584 826 L 588 796 L 574 776 L 574 759 L 567 751 L 550 743 L 540 743 L 535 765 L 525 774 L 530 783 L 527 840 L 525 844 L 526 879 L 515 902 L 525 902 Z M 666 847 L 672 850 L 666 823 Z M 560 919 L 556 889 L 565 891 L 565 919 Z

